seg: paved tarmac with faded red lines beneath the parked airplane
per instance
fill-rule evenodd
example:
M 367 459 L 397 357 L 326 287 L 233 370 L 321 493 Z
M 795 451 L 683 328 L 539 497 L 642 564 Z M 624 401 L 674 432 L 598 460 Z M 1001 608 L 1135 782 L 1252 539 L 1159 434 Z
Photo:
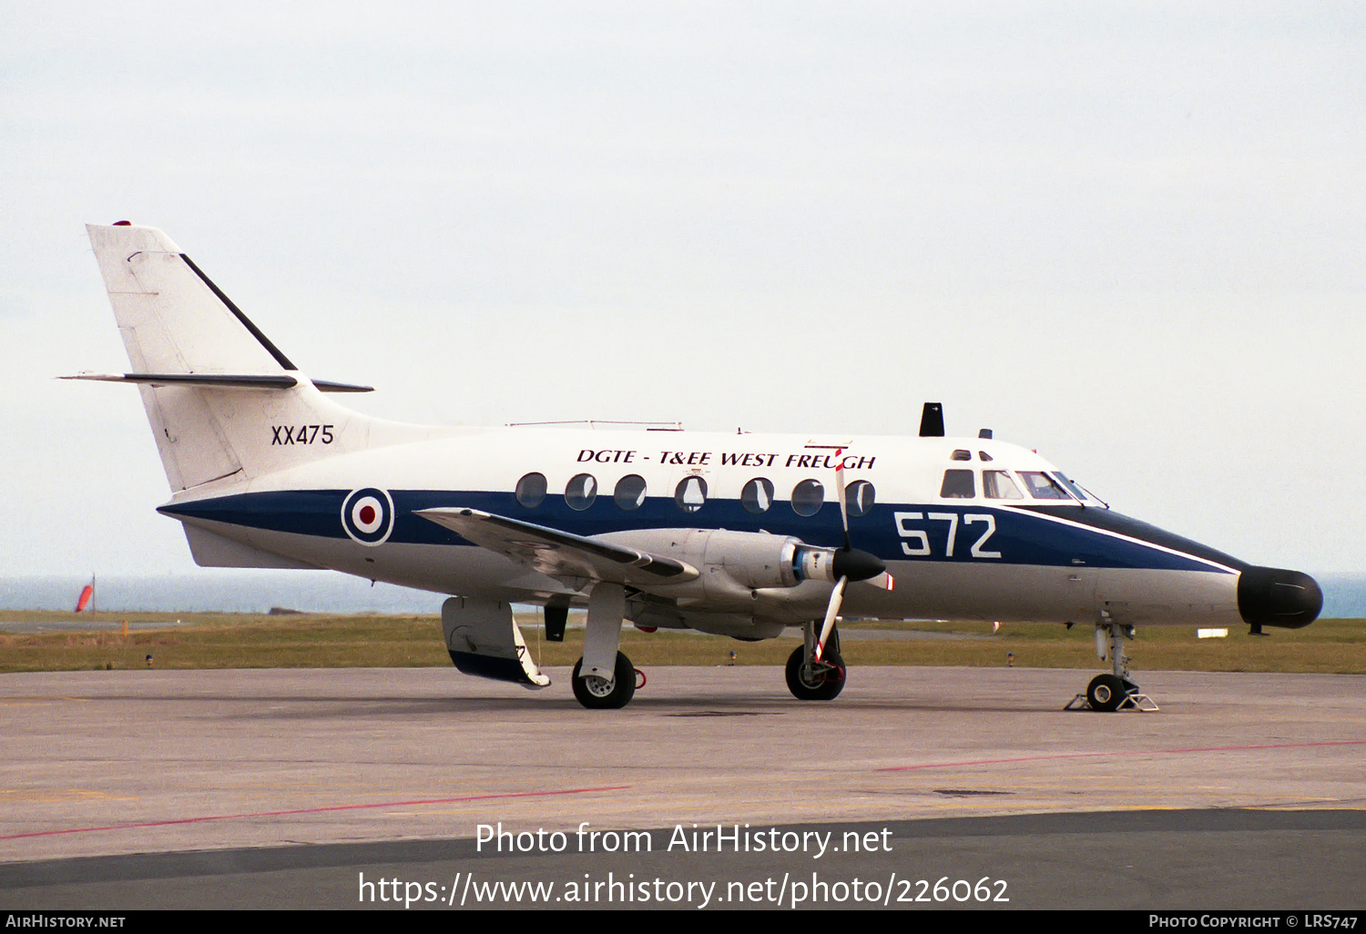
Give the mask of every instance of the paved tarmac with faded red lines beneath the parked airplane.
M 0 676 L 0 904 L 1366 907 L 1361 676 L 1139 672 L 1161 709 L 1098 714 L 1063 710 L 1079 670 L 856 668 L 802 703 L 658 668 L 617 711 L 549 673 Z

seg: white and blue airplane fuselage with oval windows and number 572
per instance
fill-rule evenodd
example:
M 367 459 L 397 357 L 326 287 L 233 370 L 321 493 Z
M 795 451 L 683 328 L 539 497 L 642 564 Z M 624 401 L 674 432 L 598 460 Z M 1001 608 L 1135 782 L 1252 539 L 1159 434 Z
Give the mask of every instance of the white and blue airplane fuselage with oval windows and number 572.
M 1246 563 L 1119 515 L 1037 453 L 990 438 L 508 427 L 329 457 L 344 426 L 287 427 L 288 436 L 276 427 L 276 444 L 311 438 L 302 442 L 320 459 L 234 481 L 221 493 L 213 483 L 187 490 L 161 511 L 262 552 L 374 580 L 582 604 L 572 582 L 471 545 L 418 511 L 469 507 L 627 545 L 675 530 L 675 554 L 686 553 L 687 535 L 719 528 L 837 548 L 839 466 L 851 537 L 896 580 L 892 591 L 851 589 L 846 614 L 1093 623 L 1104 612 L 1146 625 L 1232 625 L 1266 614 L 1247 598 L 1240 612 Z M 344 509 L 363 490 L 378 493 L 363 523 L 369 533 Z M 705 553 L 694 557 L 708 565 Z M 657 593 L 676 606 L 652 605 L 637 621 L 695 619 L 714 628 L 724 616 L 727 631 L 772 635 L 818 614 L 828 586 L 727 591 L 703 579 Z M 1273 613 L 1276 624 L 1310 621 L 1309 602 L 1291 601 Z

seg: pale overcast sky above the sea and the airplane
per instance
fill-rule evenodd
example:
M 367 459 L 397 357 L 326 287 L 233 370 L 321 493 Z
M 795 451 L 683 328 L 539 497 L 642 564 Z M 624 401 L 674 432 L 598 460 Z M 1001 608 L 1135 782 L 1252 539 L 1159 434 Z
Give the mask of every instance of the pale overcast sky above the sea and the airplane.
M 15 8 L 15 7 L 19 8 Z M 992 427 L 1366 571 L 1356 3 L 10 4 L 4 574 L 190 572 L 83 224 L 403 421 Z

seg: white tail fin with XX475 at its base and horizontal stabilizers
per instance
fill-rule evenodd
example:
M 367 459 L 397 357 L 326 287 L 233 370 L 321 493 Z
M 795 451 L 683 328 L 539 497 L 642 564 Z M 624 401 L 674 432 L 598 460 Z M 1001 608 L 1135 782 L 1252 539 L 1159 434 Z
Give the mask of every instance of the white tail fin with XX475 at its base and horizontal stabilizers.
M 86 229 L 133 373 L 82 378 L 139 384 L 172 492 L 426 436 L 325 399 L 367 388 L 299 374 L 161 231 Z

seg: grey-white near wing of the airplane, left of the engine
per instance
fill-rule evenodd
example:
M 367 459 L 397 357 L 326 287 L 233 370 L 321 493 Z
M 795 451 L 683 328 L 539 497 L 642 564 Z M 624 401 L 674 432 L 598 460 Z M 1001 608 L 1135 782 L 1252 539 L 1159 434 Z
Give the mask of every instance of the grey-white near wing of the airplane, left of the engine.
M 701 575 L 691 564 L 663 554 L 571 535 L 478 509 L 418 509 L 417 515 L 552 578 L 587 578 L 645 586 L 683 583 Z

